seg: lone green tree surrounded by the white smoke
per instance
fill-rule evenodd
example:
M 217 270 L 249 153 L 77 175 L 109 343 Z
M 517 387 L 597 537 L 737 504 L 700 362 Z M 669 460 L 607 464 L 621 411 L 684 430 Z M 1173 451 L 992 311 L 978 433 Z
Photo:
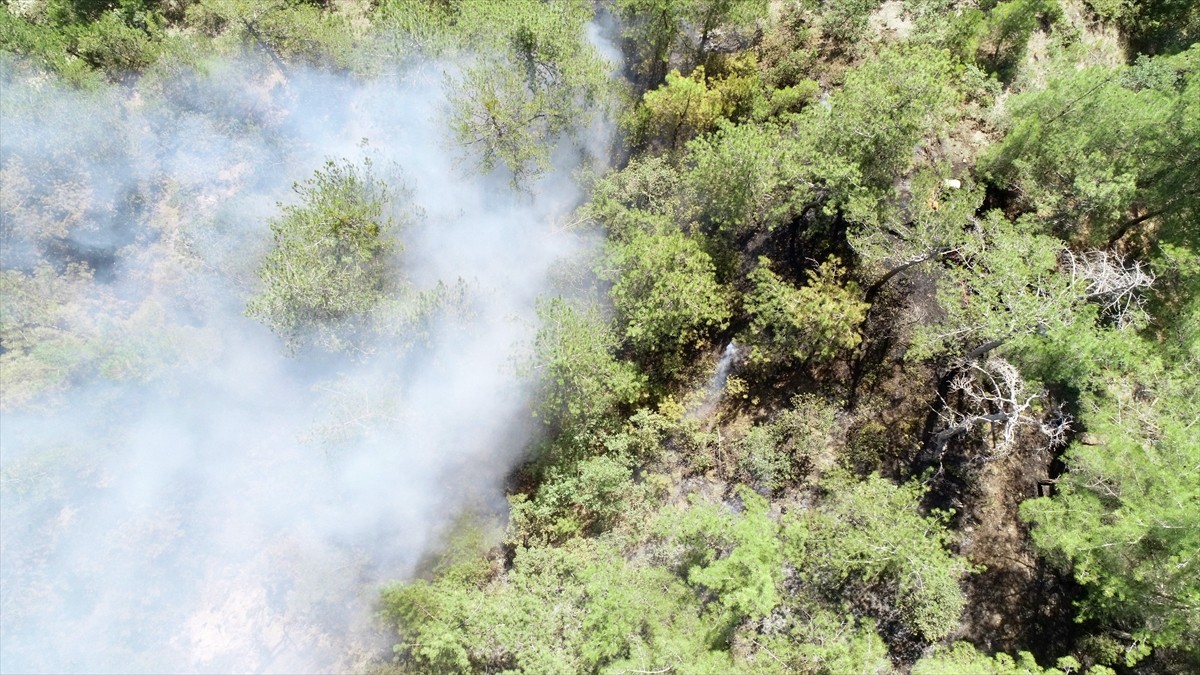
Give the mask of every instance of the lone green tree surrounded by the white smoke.
M 392 196 L 404 195 L 377 178 L 370 161 L 346 160 L 325 162 L 293 190 L 300 202 L 281 205 L 271 221 L 274 246 L 258 269 L 263 291 L 246 313 L 292 351 L 343 350 L 398 281 L 389 265 L 397 223 L 388 213 Z

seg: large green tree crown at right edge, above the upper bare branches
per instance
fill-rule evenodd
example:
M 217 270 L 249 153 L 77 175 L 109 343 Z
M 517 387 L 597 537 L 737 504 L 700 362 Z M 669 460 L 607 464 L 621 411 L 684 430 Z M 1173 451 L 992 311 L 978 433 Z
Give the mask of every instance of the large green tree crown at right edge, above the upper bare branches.
M 1196 64 L 1200 48 L 1124 72 L 1070 71 L 1014 96 L 1008 133 L 980 168 L 1066 238 L 1106 243 L 1134 225 L 1124 221 L 1159 214 L 1168 240 L 1194 241 Z

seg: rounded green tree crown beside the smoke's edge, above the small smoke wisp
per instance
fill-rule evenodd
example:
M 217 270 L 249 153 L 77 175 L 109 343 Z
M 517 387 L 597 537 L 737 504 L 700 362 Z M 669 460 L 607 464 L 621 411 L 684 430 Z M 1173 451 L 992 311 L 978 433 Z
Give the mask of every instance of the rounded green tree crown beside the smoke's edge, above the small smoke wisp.
M 728 323 L 712 258 L 679 231 L 612 244 L 604 265 L 625 339 L 643 356 L 683 356 Z

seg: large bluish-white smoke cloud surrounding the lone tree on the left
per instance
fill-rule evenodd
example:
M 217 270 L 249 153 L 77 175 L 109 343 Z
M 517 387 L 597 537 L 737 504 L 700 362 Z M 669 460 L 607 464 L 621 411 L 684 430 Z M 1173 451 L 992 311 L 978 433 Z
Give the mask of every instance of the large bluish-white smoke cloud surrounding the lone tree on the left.
M 473 174 L 440 72 L 232 62 L 80 92 L 4 67 L 4 670 L 361 665 L 378 583 L 503 503 L 581 155 L 528 193 Z M 244 315 L 268 222 L 364 156 L 422 211 L 397 270 L 450 300 L 415 335 L 288 356 Z

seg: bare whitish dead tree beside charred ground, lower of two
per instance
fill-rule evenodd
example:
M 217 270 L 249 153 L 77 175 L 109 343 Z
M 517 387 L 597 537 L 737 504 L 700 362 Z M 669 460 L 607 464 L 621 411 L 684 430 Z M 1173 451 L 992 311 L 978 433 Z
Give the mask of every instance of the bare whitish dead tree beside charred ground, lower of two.
M 992 450 L 985 458 L 989 460 L 1007 455 L 1022 429 L 1040 432 L 1046 438 L 1046 447 L 1062 444 L 1070 429 L 1070 418 L 1062 412 L 1049 419 L 1036 417 L 1033 404 L 1044 399 L 1045 393 L 1030 392 L 1016 366 L 997 357 L 983 364 L 968 362 L 950 382 L 950 394 L 955 393 L 965 405 L 955 407 L 943 401 L 938 417 L 946 429 L 934 438 L 938 450 L 950 438 L 984 424 L 991 428 L 994 438 Z

